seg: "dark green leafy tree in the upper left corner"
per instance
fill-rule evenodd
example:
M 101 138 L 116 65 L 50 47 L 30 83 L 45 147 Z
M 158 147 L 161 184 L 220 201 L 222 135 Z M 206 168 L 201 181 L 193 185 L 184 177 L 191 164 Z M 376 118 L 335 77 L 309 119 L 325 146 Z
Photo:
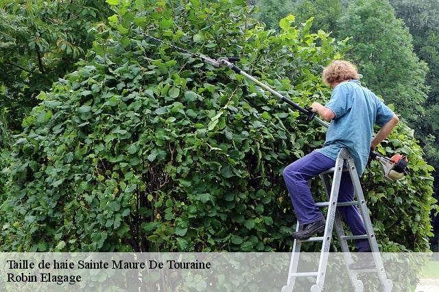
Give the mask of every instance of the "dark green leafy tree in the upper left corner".
M 75 67 L 94 38 L 93 23 L 110 12 L 97 0 L 0 3 L 0 108 L 12 130 L 40 90 Z

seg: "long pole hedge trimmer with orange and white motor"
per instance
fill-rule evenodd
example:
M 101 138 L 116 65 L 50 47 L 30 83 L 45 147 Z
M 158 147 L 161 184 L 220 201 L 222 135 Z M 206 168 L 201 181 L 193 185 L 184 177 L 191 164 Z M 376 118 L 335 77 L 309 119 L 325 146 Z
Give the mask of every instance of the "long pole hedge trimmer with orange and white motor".
M 242 71 L 241 69 L 239 69 L 238 66 L 233 64 L 233 62 L 238 61 L 239 58 L 221 57 L 221 58 L 218 58 L 217 60 L 214 60 L 214 59 L 211 59 L 211 58 L 204 56 L 202 54 L 192 53 L 191 51 L 187 51 L 186 49 L 182 49 L 180 47 L 177 47 L 176 45 L 171 45 L 168 42 L 165 42 L 159 38 L 154 38 L 154 36 L 149 36 L 143 32 L 141 32 L 141 34 L 143 34 L 144 36 L 147 36 L 148 38 L 152 38 L 153 40 L 156 40 L 158 42 L 162 42 L 163 44 L 168 45 L 169 47 L 176 49 L 177 51 L 189 53 L 189 55 L 196 57 L 196 58 L 200 58 L 201 60 L 203 60 L 203 62 L 206 62 L 207 64 L 211 64 L 212 66 L 215 66 L 215 67 L 227 66 L 228 68 L 235 71 L 235 73 L 243 75 L 248 80 L 251 80 L 255 84 L 261 86 L 262 88 L 264 88 L 268 92 L 272 93 L 273 95 L 275 95 L 276 97 L 281 99 L 281 101 L 284 101 L 285 103 L 287 103 L 289 106 L 291 106 L 295 110 L 298 110 L 302 114 L 305 114 L 306 121 L 315 120 L 318 123 L 320 123 L 320 125 L 323 125 L 324 127 L 329 127 L 329 123 L 316 117 L 316 113 L 312 112 L 309 108 L 308 109 L 302 108 L 298 104 L 295 104 L 291 99 L 288 99 L 287 97 L 281 95 L 281 93 L 278 93 L 276 90 L 273 90 L 272 88 L 270 88 L 270 86 L 263 84 L 262 82 L 255 79 L 254 77 L 252 77 L 251 75 L 249 75 L 245 71 Z M 370 150 L 369 159 L 377 160 L 380 163 L 381 169 L 383 170 L 383 173 L 384 173 L 384 177 L 390 181 L 399 180 L 408 174 L 409 169 L 407 166 L 407 164 L 408 164 L 407 157 L 403 156 L 401 154 L 395 154 L 394 156 L 392 156 L 392 158 L 386 158 L 384 156 L 377 154 L 377 152 Z

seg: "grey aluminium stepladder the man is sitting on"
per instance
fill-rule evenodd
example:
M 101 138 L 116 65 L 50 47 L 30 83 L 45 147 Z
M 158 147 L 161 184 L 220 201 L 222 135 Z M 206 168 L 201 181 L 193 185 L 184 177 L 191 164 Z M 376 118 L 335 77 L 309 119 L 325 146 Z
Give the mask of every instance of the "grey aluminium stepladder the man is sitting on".
M 354 187 L 354 201 L 352 202 L 339 202 L 338 192 L 340 189 L 340 180 L 342 178 L 342 172 L 348 171 L 351 175 L 351 180 Z M 329 181 L 329 176 L 333 173 L 332 186 Z M 344 263 L 346 265 L 346 269 L 348 270 L 349 280 L 353 285 L 355 292 L 363 291 L 364 285 L 361 280 L 357 280 L 357 274 L 359 273 L 377 273 L 379 277 L 379 281 L 381 282 L 381 287 L 383 291 L 390 292 L 392 291 L 393 283 L 392 280 L 388 279 L 383 261 L 381 260 L 381 255 L 379 254 L 379 248 L 377 239 L 375 238 L 375 234 L 373 233 L 372 223 L 370 221 L 368 208 L 366 206 L 366 200 L 364 199 L 364 194 L 361 189 L 361 184 L 359 181 L 359 177 L 357 175 L 357 170 L 355 169 L 355 163 L 351 154 L 349 154 L 348 150 L 342 148 L 340 153 L 337 156 L 337 160 L 335 161 L 335 167 L 324 171 L 320 174 L 320 178 L 323 181 L 324 188 L 327 193 L 327 197 L 329 198 L 329 202 L 320 202 L 316 203 L 318 207 L 327 207 L 327 221 L 326 226 L 324 228 L 323 236 L 310 237 L 306 240 L 298 240 L 294 239 L 294 245 L 292 250 L 292 256 L 289 263 L 289 271 L 287 277 L 287 285 L 282 288 L 282 292 L 293 291 L 294 284 L 297 277 L 316 277 L 316 284 L 311 286 L 311 292 L 317 292 L 323 290 L 324 278 L 327 270 L 327 263 L 329 257 L 329 247 L 331 245 L 331 237 L 333 231 L 333 225 L 335 223 L 335 232 L 337 233 L 338 238 L 340 239 L 340 245 L 342 247 L 342 252 L 344 256 Z M 340 219 L 340 215 L 336 212 L 337 206 L 353 206 L 357 205 L 359 207 L 359 211 L 361 213 L 361 217 L 363 218 L 364 225 L 366 227 L 367 234 L 363 235 L 353 235 L 346 236 L 344 234 L 344 230 L 342 227 L 342 221 Z M 296 231 L 301 230 L 302 226 L 299 226 L 299 222 L 297 221 Z M 363 270 L 352 270 L 349 268 L 349 265 L 353 263 L 353 259 L 351 256 L 351 252 L 349 252 L 348 248 L 348 240 L 352 239 L 368 239 L 370 249 L 372 251 L 373 260 L 375 263 L 374 269 L 363 269 Z M 322 242 L 322 251 L 320 252 L 320 260 L 318 265 L 318 271 L 314 272 L 298 272 L 298 263 L 300 257 L 300 245 L 304 242 L 310 241 L 321 241 Z

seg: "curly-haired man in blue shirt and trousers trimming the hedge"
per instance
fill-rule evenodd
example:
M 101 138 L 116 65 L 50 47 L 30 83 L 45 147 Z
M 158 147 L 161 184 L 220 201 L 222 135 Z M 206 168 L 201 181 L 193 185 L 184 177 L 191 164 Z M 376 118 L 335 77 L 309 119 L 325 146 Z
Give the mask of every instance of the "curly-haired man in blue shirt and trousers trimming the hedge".
M 296 217 L 303 226 L 302 230 L 293 233 L 296 239 L 307 239 L 324 231 L 325 226 L 324 217 L 313 200 L 307 181 L 334 167 L 337 155 L 343 147 L 351 153 L 357 173 L 361 176 L 366 168 L 370 149 L 375 149 L 399 122 L 388 106 L 372 91 L 361 86 L 357 69 L 350 62 L 333 61 L 324 69 L 322 77 L 333 88 L 331 99 L 325 106 L 314 102 L 311 110 L 322 119 L 331 121 L 326 141 L 321 149 L 296 160 L 283 171 Z M 375 123 L 381 130 L 372 139 Z M 353 201 L 353 195 L 351 176 L 343 173 L 338 202 Z M 337 210 L 354 235 L 366 234 L 357 206 L 339 207 Z M 357 240 L 356 246 L 358 252 L 370 252 L 367 239 Z

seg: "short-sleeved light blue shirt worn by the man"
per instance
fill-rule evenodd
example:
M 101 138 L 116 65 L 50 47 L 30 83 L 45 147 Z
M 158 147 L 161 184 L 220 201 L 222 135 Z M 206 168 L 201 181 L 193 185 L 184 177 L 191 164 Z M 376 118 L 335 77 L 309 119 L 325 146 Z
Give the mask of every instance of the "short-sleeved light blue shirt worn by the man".
M 340 149 L 346 147 L 358 175 L 362 175 L 368 162 L 373 125 L 377 123 L 382 127 L 392 119 L 394 112 L 358 80 L 335 86 L 325 107 L 331 109 L 335 117 L 329 124 L 323 147 L 316 151 L 335 160 Z

